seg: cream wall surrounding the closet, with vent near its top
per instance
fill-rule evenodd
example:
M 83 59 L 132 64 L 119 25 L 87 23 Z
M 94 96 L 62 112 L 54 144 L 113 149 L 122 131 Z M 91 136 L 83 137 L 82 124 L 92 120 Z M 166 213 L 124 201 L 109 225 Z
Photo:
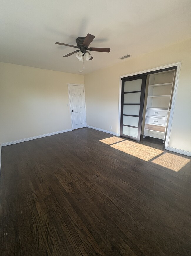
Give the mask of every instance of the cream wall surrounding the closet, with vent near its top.
M 119 76 L 182 61 L 169 146 L 191 151 L 190 49 L 186 40 L 85 75 L 87 125 L 118 133 Z

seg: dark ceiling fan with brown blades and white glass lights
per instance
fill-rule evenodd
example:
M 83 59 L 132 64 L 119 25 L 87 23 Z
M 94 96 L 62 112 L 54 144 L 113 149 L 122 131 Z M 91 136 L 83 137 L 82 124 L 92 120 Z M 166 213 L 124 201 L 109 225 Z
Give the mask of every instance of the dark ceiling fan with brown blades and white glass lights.
M 88 48 L 89 44 L 93 41 L 94 38 L 95 38 L 95 36 L 91 35 L 91 34 L 88 34 L 86 37 L 78 37 L 78 38 L 76 38 L 77 46 L 68 45 L 68 44 L 59 43 L 59 42 L 56 42 L 55 44 L 70 46 L 70 47 L 79 49 L 72 53 L 68 53 L 68 54 L 64 55 L 63 57 L 68 57 L 68 56 L 76 53 L 76 57 L 78 58 L 79 61 L 84 61 L 84 59 L 86 59 L 86 61 L 90 61 L 93 59 L 93 57 L 87 50 L 94 51 L 94 52 L 105 52 L 105 53 L 109 53 L 111 50 L 110 48 L 98 48 L 98 47 L 97 48 L 96 47 Z

